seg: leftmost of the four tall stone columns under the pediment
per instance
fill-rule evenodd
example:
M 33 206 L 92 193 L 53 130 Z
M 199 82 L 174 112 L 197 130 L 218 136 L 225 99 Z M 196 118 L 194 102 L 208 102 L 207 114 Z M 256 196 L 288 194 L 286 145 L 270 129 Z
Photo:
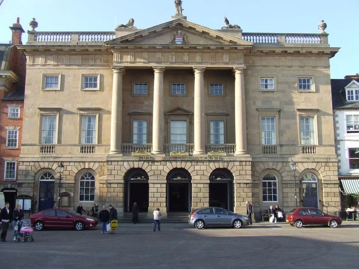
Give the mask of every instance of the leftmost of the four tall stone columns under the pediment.
M 112 70 L 110 154 L 120 154 L 122 143 L 122 74 L 124 69 L 113 68 Z

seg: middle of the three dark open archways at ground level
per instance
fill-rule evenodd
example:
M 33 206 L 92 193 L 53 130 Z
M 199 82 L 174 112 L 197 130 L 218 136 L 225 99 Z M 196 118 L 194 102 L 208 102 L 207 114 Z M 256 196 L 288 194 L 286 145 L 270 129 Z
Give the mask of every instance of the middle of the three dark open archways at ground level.
M 174 169 L 167 175 L 167 211 L 191 211 L 191 175 L 183 168 Z

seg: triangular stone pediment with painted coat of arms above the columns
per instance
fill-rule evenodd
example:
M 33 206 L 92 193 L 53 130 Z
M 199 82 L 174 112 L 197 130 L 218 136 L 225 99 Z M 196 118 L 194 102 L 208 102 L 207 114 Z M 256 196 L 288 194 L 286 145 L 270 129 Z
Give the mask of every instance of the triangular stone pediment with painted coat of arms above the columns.
M 111 46 L 252 46 L 253 43 L 184 19 L 174 19 L 109 40 Z

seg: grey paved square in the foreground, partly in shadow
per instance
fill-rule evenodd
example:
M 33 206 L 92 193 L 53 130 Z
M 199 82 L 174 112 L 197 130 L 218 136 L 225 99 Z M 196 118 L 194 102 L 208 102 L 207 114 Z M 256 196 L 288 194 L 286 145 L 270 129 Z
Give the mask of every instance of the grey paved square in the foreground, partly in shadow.
M 34 232 L 35 242 L 1 243 L 1 268 L 358 268 L 359 222 L 338 229 L 256 223 L 197 230 L 185 223 L 120 224 L 94 230 Z

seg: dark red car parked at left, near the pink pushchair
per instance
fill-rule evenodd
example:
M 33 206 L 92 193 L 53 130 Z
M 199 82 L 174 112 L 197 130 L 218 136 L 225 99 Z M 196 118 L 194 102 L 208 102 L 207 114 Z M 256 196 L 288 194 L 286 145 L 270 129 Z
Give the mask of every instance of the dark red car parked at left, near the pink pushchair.
M 31 225 L 36 231 L 44 228 L 71 228 L 81 231 L 85 228 L 97 226 L 97 219 L 91 216 L 80 215 L 67 209 L 46 209 L 30 215 Z

